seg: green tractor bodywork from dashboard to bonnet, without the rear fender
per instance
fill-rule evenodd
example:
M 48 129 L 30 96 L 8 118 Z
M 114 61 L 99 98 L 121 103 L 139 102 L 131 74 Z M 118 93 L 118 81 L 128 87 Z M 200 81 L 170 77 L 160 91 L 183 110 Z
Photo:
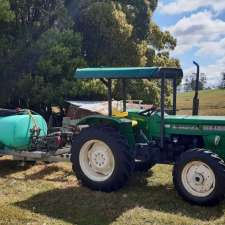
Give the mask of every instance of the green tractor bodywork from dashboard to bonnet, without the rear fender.
M 160 138 L 160 113 L 140 116 L 129 113 L 130 119 L 138 121 L 138 126 L 149 139 Z M 165 137 L 174 135 L 201 136 L 204 148 L 216 152 L 225 160 L 225 117 L 221 116 L 165 116 Z M 215 144 L 215 139 L 220 139 Z

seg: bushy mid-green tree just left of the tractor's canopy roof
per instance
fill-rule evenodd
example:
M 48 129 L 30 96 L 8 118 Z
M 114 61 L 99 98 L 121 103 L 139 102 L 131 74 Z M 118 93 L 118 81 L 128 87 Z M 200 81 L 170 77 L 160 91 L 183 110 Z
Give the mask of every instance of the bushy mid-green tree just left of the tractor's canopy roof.
M 35 107 L 38 102 L 43 106 L 63 105 L 64 98 L 71 95 L 71 89 L 65 88 L 66 82 L 74 84 L 75 68 L 86 65 L 80 54 L 80 35 L 72 30 L 50 29 L 40 37 L 33 50 L 39 55 L 36 69 L 16 85 L 15 93 L 19 94 L 20 103 L 27 107 Z

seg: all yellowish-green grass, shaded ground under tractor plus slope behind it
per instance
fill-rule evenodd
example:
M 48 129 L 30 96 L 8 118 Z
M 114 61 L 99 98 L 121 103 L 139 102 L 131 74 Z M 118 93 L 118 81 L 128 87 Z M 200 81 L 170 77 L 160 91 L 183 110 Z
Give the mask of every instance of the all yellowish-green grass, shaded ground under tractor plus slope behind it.
M 190 112 L 191 97 L 179 96 L 179 113 Z M 225 91 L 204 91 L 200 98 L 201 114 L 225 115 Z M 171 166 L 155 166 L 135 174 L 120 191 L 106 194 L 82 187 L 69 163 L 21 167 L 2 158 L 0 224 L 225 224 L 225 202 L 206 208 L 183 201 L 171 171 Z

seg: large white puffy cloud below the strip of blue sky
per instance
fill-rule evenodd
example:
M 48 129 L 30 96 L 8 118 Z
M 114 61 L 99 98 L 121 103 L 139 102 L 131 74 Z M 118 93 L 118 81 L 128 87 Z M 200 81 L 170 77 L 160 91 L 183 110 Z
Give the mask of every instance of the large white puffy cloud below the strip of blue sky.
M 164 30 L 169 30 L 177 38 L 174 56 L 184 54 L 194 47 L 199 54 L 206 53 L 208 49 L 212 50 L 211 53 L 220 55 L 225 47 L 225 40 L 223 40 L 225 39 L 225 21 L 214 18 L 209 11 L 183 17 L 175 25 L 166 27 Z

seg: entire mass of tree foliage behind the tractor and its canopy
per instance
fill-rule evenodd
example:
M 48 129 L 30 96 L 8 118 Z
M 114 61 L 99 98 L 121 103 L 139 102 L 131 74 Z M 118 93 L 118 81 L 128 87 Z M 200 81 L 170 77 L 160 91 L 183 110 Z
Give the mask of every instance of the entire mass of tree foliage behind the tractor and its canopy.
M 41 111 L 67 98 L 106 98 L 100 81 L 74 78 L 77 67 L 179 67 L 170 57 L 176 40 L 152 20 L 157 3 L 0 0 L 0 105 Z M 119 99 L 120 82 L 113 84 Z M 159 87 L 155 81 L 129 81 L 128 95 L 157 104 Z

